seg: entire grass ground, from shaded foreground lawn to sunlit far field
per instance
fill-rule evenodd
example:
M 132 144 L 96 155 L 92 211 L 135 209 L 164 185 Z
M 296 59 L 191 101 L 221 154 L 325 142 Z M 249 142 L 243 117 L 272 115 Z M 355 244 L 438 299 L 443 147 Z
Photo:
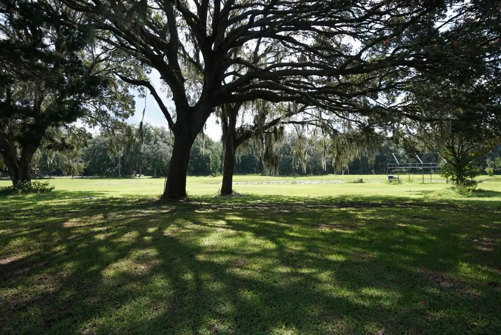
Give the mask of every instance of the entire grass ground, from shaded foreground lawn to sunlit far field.
M 0 196 L 0 333 L 501 333 L 501 178 L 468 198 L 356 178 Z

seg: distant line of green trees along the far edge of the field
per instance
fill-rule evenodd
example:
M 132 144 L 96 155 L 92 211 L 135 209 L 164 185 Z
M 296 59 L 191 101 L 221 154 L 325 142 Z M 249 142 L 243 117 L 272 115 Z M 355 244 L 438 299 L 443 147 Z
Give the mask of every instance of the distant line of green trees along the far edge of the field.
M 131 126 L 135 134 L 128 142 L 117 146 L 117 138 L 111 134 L 97 134 L 87 137 L 80 129 L 79 140 L 66 151 L 54 150 L 50 144 L 43 145 L 35 153 L 32 162 L 34 176 L 104 176 L 128 177 L 151 176 L 165 177 L 172 154 L 173 136 L 163 127 L 144 124 L 141 129 L 142 142 L 138 139 L 139 129 Z M 68 137 L 68 136 L 67 136 Z M 85 140 L 84 140 L 85 139 Z M 391 139 L 383 139 L 372 154 L 360 152 L 346 168 L 335 171 L 332 163 L 323 164 L 323 160 L 332 162 L 333 157 L 322 156 L 322 147 L 310 138 L 305 147 L 304 156 L 295 155 L 300 136 L 293 131 L 284 134 L 279 153 L 279 174 L 285 176 L 349 174 L 370 175 L 386 174 L 387 163 L 393 152 L 404 152 L 400 144 Z M 328 150 L 331 152 L 332 150 Z M 218 176 L 222 173 L 223 147 L 221 141 L 215 141 L 207 135 L 199 135 L 193 143 L 190 153 L 188 175 Z M 304 159 L 303 162 L 300 161 Z M 501 170 L 501 146 L 481 159 L 484 167 L 490 171 Z M 3 177 L 7 177 L 5 167 Z M 252 148 L 246 148 L 236 156 L 235 174 L 269 174 L 263 158 L 255 154 Z

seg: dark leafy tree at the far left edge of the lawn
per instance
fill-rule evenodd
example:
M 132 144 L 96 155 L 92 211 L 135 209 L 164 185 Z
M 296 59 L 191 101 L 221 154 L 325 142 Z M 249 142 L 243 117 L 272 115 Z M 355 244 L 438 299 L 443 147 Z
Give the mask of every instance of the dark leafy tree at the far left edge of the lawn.
M 132 111 L 127 87 L 86 50 L 89 31 L 61 25 L 69 17 L 54 2 L 0 2 L 0 153 L 14 184 L 31 180 L 43 141 L 64 142 L 57 137 L 68 131 L 55 129 L 81 118 L 109 124 Z

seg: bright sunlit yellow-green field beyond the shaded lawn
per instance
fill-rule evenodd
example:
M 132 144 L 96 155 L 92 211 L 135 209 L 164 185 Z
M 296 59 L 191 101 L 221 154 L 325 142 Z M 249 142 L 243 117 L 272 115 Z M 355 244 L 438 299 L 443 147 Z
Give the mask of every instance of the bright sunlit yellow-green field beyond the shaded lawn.
M 438 175 L 425 175 L 422 184 L 421 175 L 411 176 L 409 183 L 406 175 L 401 175 L 402 185 L 385 184 L 385 175 L 362 176 L 365 183 L 352 184 L 361 176 L 307 176 L 307 177 L 266 177 L 266 176 L 234 176 L 234 190 L 237 193 L 252 196 L 287 196 L 287 197 L 336 197 L 336 198 L 371 198 L 388 196 L 398 198 L 441 198 L 442 200 L 457 198 L 457 195 L 440 193 L 448 188 L 445 180 Z M 478 178 L 482 183 L 478 188 L 485 192 L 477 192 L 471 200 L 501 201 L 501 176 Z M 56 191 L 89 192 L 95 196 L 106 197 L 157 197 L 163 192 L 163 178 L 54 178 L 44 179 L 56 186 Z M 0 188 L 12 185 L 10 180 L 1 180 Z M 189 197 L 213 197 L 218 194 L 221 177 L 188 177 L 187 192 Z M 494 193 L 491 193 L 494 192 Z M 496 194 L 495 192 L 499 192 Z M 461 198 L 461 197 L 459 197 Z

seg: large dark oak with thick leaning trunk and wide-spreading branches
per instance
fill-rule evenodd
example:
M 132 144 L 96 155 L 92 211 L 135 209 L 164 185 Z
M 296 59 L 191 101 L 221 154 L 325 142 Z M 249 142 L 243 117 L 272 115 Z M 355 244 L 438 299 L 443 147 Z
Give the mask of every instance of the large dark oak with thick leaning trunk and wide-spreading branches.
M 190 148 L 214 107 L 263 99 L 328 108 L 337 95 L 346 96 L 345 79 L 351 76 L 385 73 L 396 80 L 412 76 L 413 69 L 431 70 L 426 54 L 404 37 L 408 31 L 433 27 L 449 4 L 437 0 L 63 3 L 88 16 L 96 38 L 156 69 L 168 86 L 175 111 L 169 111 L 150 82 L 123 76 L 150 89 L 174 133 L 166 197 L 186 195 Z M 360 47 L 348 47 L 349 41 Z M 239 57 L 241 50 L 252 53 L 256 46 L 268 57 L 260 62 Z M 397 82 L 384 85 L 396 88 Z

